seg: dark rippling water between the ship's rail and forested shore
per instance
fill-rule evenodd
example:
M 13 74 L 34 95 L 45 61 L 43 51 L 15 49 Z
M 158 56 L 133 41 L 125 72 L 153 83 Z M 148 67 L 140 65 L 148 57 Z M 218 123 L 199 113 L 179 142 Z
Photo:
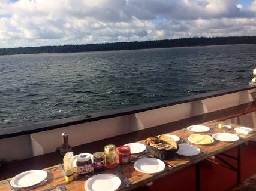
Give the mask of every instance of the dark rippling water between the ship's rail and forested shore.
M 256 45 L 0 56 L 0 127 L 247 85 Z

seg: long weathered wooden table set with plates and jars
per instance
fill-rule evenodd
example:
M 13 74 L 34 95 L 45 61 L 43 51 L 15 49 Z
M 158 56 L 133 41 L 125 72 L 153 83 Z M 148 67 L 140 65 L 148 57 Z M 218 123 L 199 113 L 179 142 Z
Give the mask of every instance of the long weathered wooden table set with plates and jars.
M 227 128 L 218 128 L 218 124 L 225 125 L 224 122 L 222 121 L 210 121 L 203 123 L 201 125 L 207 125 L 210 127 L 211 132 L 207 133 L 200 133 L 200 134 L 208 134 L 212 135 L 213 133 L 218 133 L 218 132 L 229 132 L 229 133 L 236 133 L 234 130 L 228 130 Z M 228 125 L 233 125 L 234 127 L 237 127 L 238 125 L 235 124 L 228 124 Z M 190 134 L 195 134 L 193 132 L 190 132 L 186 130 L 186 128 L 183 128 L 181 130 L 173 131 L 170 132 L 170 134 L 174 134 L 179 136 L 180 138 L 183 138 L 185 141 L 188 140 L 188 137 Z M 157 135 L 157 134 L 156 134 Z M 213 155 L 218 155 L 219 153 L 222 153 L 228 149 L 231 149 L 233 147 L 238 147 L 238 155 L 237 157 L 230 156 L 231 158 L 237 159 L 237 167 L 233 168 L 233 170 L 237 171 L 237 182 L 240 181 L 240 155 L 241 155 L 241 145 L 243 143 L 246 143 L 246 141 L 251 140 L 252 138 L 256 137 L 256 131 L 252 131 L 250 134 L 237 134 L 239 135 L 240 139 L 238 141 L 234 142 L 223 142 L 223 141 L 218 141 L 215 140 L 214 143 L 208 144 L 208 145 L 198 145 L 196 144 L 197 147 L 200 149 L 204 149 L 207 152 L 206 153 L 200 153 L 195 156 L 179 156 L 176 155 L 173 159 L 170 160 L 165 160 L 168 164 L 172 165 L 173 168 L 168 168 L 165 167 L 165 170 L 157 173 L 157 174 L 144 174 L 142 172 L 138 172 L 137 170 L 134 169 L 133 164 L 127 164 L 127 165 L 121 165 L 122 170 L 124 171 L 124 175 L 129 178 L 129 180 L 132 182 L 131 187 L 126 187 L 123 183 L 121 183 L 121 186 L 119 187 L 119 190 L 133 190 L 136 189 L 137 187 L 143 186 L 144 184 L 150 183 L 152 181 L 158 180 L 159 178 L 164 177 L 165 175 L 177 172 L 179 170 L 182 170 L 183 168 L 186 168 L 190 165 L 196 164 L 196 190 L 200 190 L 200 161 L 203 161 L 204 159 L 209 159 L 210 156 Z M 139 143 L 144 143 L 144 140 L 141 140 Z M 135 157 L 136 155 L 133 155 L 132 157 Z M 225 161 L 224 161 L 225 164 Z M 229 167 L 228 164 L 225 164 L 226 167 Z M 232 167 L 230 167 L 232 168 Z M 55 190 L 56 186 L 59 185 L 65 185 L 67 187 L 67 190 L 72 190 L 72 191 L 79 191 L 79 190 L 85 190 L 84 185 L 85 181 L 88 178 L 78 178 L 75 174 L 74 176 L 74 181 L 71 181 L 70 183 L 65 182 L 65 178 L 62 175 L 62 171 L 59 168 L 59 165 L 55 165 L 53 167 L 49 167 L 44 169 L 47 171 L 47 183 L 44 184 L 43 186 L 38 186 L 37 188 L 33 190 L 41 190 L 41 191 L 49 191 L 49 190 Z M 117 168 L 113 169 L 107 169 L 103 173 L 118 173 Z M 2 180 L 0 181 L 0 191 L 9 191 L 10 187 L 6 184 L 6 181 L 10 181 L 11 178 L 7 180 Z M 22 190 L 28 190 L 28 189 L 20 189 Z

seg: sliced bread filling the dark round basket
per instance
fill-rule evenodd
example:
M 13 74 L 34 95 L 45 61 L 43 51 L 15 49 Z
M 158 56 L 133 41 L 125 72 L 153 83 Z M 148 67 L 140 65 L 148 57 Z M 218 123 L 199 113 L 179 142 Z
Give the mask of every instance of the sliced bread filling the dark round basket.
M 177 143 L 171 137 L 166 135 L 160 135 L 158 137 L 149 137 L 146 139 L 146 143 L 157 149 L 173 150 L 177 149 Z

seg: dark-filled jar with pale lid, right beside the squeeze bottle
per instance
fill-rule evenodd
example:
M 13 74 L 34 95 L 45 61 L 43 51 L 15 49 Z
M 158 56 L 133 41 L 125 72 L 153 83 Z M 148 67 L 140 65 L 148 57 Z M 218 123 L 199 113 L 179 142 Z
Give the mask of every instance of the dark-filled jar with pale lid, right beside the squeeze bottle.
M 93 170 L 91 154 L 82 153 L 77 156 L 77 175 L 91 175 Z

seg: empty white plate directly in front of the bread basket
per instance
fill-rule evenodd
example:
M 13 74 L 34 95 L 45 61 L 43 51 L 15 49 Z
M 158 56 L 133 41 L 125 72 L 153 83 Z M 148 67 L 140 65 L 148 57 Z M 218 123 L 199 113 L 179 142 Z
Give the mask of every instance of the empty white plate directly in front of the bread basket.
M 164 162 L 156 158 L 142 158 L 134 163 L 135 170 L 146 174 L 161 172 L 165 168 Z

